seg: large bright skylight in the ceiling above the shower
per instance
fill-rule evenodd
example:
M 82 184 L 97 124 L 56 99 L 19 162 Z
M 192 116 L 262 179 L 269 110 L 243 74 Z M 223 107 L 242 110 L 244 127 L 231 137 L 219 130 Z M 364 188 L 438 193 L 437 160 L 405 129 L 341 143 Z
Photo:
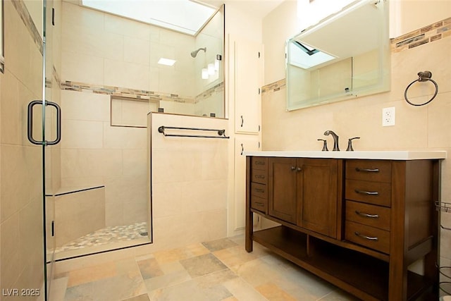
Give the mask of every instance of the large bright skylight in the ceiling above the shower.
M 82 5 L 196 35 L 216 8 L 190 0 L 82 0 Z

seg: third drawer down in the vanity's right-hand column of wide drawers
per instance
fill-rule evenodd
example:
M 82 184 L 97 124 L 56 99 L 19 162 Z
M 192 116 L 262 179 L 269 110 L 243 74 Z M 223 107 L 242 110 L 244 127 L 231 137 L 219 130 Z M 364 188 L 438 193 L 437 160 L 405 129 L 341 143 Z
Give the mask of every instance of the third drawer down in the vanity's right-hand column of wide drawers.
M 390 209 L 346 201 L 346 220 L 390 231 Z

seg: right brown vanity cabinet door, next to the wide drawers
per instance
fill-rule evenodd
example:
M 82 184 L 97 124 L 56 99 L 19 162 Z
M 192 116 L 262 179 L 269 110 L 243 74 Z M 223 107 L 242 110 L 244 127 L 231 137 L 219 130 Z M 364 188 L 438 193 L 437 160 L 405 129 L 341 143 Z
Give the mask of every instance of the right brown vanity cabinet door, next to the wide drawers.
M 297 225 L 337 236 L 338 161 L 297 159 Z

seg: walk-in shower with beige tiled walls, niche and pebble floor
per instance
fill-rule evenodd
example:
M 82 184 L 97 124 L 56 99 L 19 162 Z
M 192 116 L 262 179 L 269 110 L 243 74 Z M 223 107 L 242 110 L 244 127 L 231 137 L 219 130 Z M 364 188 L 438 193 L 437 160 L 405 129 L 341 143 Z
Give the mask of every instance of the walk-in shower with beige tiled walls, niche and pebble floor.
M 73 11 L 78 15 L 72 16 Z M 76 18 L 82 13 L 89 13 L 89 22 Z M 62 32 L 69 33 L 61 37 L 66 72 L 61 75 L 61 99 L 57 99 L 63 111 L 63 137 L 48 160 L 55 184 L 48 196 L 55 212 L 48 227 L 56 233 L 56 260 L 152 242 L 147 191 L 149 111 L 219 118 L 225 111 L 223 66 L 217 59 L 223 56 L 223 9 L 195 35 L 67 1 L 63 1 L 61 19 Z M 104 20 L 122 27 L 108 27 Z M 72 32 L 74 25 L 97 39 L 92 42 Z M 121 56 L 105 47 L 120 42 L 110 40 L 119 36 L 123 36 Z M 199 56 L 199 51 L 205 55 Z M 97 69 L 89 59 L 98 56 L 104 63 Z M 160 65 L 161 58 L 173 59 L 175 67 Z M 70 68 L 75 66 L 71 62 L 78 68 Z M 209 65 L 218 68 L 204 80 L 201 70 Z

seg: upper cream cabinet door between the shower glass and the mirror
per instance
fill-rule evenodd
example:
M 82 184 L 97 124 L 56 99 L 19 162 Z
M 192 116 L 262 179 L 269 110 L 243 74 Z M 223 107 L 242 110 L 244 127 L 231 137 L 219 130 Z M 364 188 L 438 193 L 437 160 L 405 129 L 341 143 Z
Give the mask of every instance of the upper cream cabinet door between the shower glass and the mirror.
M 258 134 L 263 85 L 263 45 L 235 39 L 235 132 Z

